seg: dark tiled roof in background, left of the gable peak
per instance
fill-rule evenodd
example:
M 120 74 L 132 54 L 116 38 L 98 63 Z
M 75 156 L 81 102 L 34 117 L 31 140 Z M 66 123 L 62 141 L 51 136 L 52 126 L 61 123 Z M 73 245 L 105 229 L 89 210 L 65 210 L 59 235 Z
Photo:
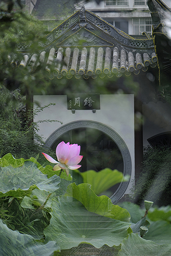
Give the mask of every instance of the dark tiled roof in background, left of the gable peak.
M 75 3 L 76 0 L 37 0 L 33 13 L 42 17 L 63 15 L 67 17 L 68 14 L 74 13 Z

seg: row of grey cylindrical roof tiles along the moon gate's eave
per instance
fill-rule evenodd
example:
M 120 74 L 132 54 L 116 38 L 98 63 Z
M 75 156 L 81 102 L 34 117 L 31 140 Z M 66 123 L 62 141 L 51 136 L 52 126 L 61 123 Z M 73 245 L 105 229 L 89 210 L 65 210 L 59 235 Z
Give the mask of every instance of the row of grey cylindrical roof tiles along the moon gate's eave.
M 49 52 L 41 52 L 29 56 L 24 54 L 20 63 L 11 62 L 14 67 L 17 65 L 23 72 L 35 71 L 40 63 L 44 64 L 45 69 L 49 72 L 49 78 L 61 79 L 63 76 L 71 78 L 75 76 L 85 79 L 100 76 L 117 77 L 131 73 L 139 74 L 141 70 L 146 72 L 148 67 L 156 67 L 157 57 L 155 52 L 126 51 L 119 50 L 117 47 L 110 48 L 50 48 Z M 53 64 L 53 65 L 52 65 Z

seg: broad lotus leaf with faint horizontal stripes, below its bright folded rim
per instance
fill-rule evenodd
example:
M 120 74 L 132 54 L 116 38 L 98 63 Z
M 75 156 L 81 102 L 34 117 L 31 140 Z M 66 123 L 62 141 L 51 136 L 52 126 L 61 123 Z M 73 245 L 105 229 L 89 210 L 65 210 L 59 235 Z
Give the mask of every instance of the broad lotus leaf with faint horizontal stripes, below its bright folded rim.
M 61 249 L 70 249 L 80 243 L 119 245 L 128 235 L 130 224 L 91 213 L 73 197 L 60 196 L 52 203 L 52 218 L 45 228 L 45 240 L 56 241 Z

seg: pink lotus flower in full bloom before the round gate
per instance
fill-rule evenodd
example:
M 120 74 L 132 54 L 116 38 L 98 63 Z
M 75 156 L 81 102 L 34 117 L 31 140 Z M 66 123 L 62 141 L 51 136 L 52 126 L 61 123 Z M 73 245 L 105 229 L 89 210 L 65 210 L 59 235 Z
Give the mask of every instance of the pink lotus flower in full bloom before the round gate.
M 65 169 L 67 176 L 69 175 L 69 169 L 76 170 L 81 167 L 81 165 L 78 165 L 78 163 L 80 163 L 83 156 L 79 155 L 80 146 L 78 146 L 78 144 L 69 145 L 69 142 L 65 144 L 64 141 L 59 143 L 56 147 L 56 156 L 58 162 L 48 154 L 42 154 L 50 163 L 57 164 L 53 168 L 54 171 Z

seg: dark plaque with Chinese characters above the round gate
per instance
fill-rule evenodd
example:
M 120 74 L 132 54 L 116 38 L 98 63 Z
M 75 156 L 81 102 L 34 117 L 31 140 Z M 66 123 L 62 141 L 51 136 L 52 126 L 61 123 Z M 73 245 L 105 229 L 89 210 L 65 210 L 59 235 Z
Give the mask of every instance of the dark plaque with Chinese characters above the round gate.
M 100 109 L 100 94 L 68 94 L 68 109 Z

